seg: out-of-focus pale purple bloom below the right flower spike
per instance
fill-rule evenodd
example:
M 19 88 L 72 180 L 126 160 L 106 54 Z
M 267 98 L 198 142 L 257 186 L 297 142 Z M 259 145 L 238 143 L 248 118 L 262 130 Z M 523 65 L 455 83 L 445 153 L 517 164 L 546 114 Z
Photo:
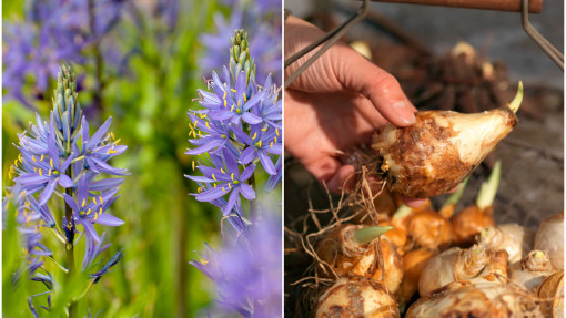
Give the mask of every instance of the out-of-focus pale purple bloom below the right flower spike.
M 191 264 L 215 283 L 222 307 L 244 317 L 281 317 L 282 227 L 275 215 L 262 215 L 232 246 L 215 252 L 206 245 Z

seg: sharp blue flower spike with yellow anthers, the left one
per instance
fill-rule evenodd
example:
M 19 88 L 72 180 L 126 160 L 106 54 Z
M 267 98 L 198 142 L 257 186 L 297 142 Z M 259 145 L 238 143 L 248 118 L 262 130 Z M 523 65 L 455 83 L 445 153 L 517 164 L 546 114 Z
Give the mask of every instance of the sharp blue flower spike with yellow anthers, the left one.
M 43 258 L 57 260 L 42 243 L 43 229 L 50 229 L 67 250 L 72 250 L 77 243 L 75 234 L 83 235 L 87 250 L 82 270 L 89 270 L 97 256 L 109 246 L 102 246 L 104 234 L 99 236 L 94 225 L 123 224 L 108 209 L 119 196 L 118 186 L 123 182 L 120 176 L 128 174 L 125 170 L 108 164 L 110 158 L 127 150 L 127 146 L 119 145 L 120 140 L 113 133 L 108 133 L 112 119 L 108 119 L 94 134 L 90 134 L 89 123 L 78 101 L 74 74 L 67 66 L 60 69 L 52 103 L 49 122 L 36 115 L 37 121 L 30 123 L 29 131 L 18 135 L 17 147 L 20 154 L 9 172 L 14 184 L 8 188 L 3 206 L 4 213 L 10 204 L 16 206 L 18 229 L 26 238 L 28 275 L 32 280 L 46 283 L 49 289 L 53 281 L 42 267 Z M 51 203 L 58 197 L 64 201 L 65 212 L 53 214 L 50 207 L 54 204 Z M 121 257 L 122 252 L 119 250 L 101 270 L 92 274 L 92 284 Z M 68 268 L 60 266 L 68 271 L 74 270 L 73 260 L 68 259 Z M 43 270 L 39 273 L 38 269 Z M 30 300 L 30 309 L 37 316 L 32 305 Z

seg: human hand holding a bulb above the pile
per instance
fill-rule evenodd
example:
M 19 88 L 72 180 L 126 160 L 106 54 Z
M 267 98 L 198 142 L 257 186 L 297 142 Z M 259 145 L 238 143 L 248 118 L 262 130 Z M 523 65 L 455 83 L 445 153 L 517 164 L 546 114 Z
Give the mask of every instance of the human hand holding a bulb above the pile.
M 285 57 L 322 35 L 316 27 L 289 17 Z M 311 54 L 285 69 L 285 78 Z M 338 151 L 370 142 L 387 121 L 397 126 L 413 124 L 415 111 L 392 75 L 337 43 L 285 90 L 285 150 L 331 191 L 347 191 L 354 166 L 343 164 Z M 416 206 L 423 201 L 405 203 Z

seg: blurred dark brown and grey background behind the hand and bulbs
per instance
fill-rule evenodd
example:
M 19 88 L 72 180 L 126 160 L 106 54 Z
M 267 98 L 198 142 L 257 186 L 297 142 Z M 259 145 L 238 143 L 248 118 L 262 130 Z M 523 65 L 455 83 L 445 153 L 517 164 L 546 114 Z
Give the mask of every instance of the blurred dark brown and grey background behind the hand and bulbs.
M 324 31 L 352 17 L 362 1 L 285 1 L 285 9 Z M 564 51 L 564 1 L 544 1 L 529 14 L 533 27 Z M 564 73 L 525 33 L 519 12 L 371 2 L 370 13 L 342 39 L 393 74 L 420 110 L 479 112 L 509 101 L 523 81 L 519 123 L 474 172 L 456 213 L 475 201 L 496 160 L 502 181 L 495 198 L 497 224 L 537 229 L 564 211 Z M 341 150 L 346 151 L 346 150 Z M 291 156 L 285 158 L 285 317 L 309 317 L 302 294 L 313 264 L 295 234 L 316 233 L 309 211 L 337 206 Z M 433 198 L 439 208 L 446 196 Z M 330 204 L 333 203 L 333 205 Z M 347 207 L 342 216 L 347 216 Z M 306 275 L 307 276 L 307 275 Z M 306 308 L 306 309 L 305 309 Z M 305 311 L 306 310 L 306 311 Z

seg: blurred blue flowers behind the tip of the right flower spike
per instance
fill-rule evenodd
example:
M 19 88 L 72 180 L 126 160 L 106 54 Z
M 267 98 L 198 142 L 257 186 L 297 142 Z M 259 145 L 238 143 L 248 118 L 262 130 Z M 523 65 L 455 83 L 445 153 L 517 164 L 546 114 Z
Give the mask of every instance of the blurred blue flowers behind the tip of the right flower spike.
M 250 53 L 257 62 L 257 82 L 263 83 L 271 73 L 275 84 L 281 85 L 281 1 L 275 0 L 224 0 L 232 9 L 224 17 L 214 16 L 216 32 L 202 34 L 205 55 L 201 58 L 202 71 L 209 73 L 223 65 L 229 58 L 230 35 L 235 29 L 254 30 L 250 40 Z

